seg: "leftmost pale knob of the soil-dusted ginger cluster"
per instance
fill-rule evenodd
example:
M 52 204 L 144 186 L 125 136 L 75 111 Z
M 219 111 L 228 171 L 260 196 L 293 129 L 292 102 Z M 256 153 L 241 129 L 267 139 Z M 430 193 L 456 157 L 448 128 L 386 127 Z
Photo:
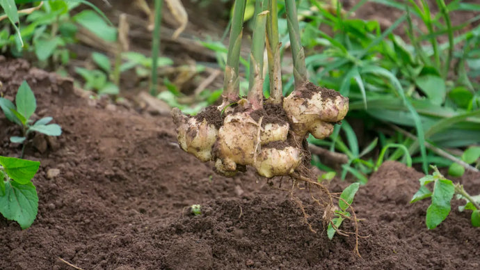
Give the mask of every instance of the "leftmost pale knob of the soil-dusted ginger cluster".
M 178 143 L 185 152 L 193 154 L 201 161 L 212 159 L 211 150 L 216 142 L 218 129 L 207 120 L 199 122 L 193 117 L 188 117 L 174 108 L 173 120 L 177 125 Z

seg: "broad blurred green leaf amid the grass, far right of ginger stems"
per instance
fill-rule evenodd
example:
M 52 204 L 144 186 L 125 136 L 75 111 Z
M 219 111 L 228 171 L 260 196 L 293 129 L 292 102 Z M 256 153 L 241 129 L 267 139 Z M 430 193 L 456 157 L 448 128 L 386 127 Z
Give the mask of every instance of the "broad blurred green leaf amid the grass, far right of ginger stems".
M 447 90 L 442 77 L 426 74 L 415 79 L 415 84 L 422 89 L 432 104 L 440 105 L 445 101 Z

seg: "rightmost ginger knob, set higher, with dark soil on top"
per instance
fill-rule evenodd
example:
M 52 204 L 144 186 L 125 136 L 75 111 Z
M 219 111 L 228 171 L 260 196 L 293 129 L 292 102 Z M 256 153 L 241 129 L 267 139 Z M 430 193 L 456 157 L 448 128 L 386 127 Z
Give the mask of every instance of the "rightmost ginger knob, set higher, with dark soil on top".
M 322 99 L 321 91 L 310 99 L 292 93 L 283 101 L 294 132 L 303 137 L 310 132 L 315 138 L 326 138 L 333 132 L 333 124 L 349 111 L 349 99 L 342 95 Z

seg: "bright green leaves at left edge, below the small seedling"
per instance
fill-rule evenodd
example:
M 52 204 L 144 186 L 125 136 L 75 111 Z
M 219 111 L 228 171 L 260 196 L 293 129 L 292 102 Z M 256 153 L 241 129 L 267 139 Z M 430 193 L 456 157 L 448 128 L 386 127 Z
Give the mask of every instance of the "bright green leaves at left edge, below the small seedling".
M 0 213 L 29 228 L 38 212 L 38 195 L 31 180 L 40 162 L 0 156 Z

